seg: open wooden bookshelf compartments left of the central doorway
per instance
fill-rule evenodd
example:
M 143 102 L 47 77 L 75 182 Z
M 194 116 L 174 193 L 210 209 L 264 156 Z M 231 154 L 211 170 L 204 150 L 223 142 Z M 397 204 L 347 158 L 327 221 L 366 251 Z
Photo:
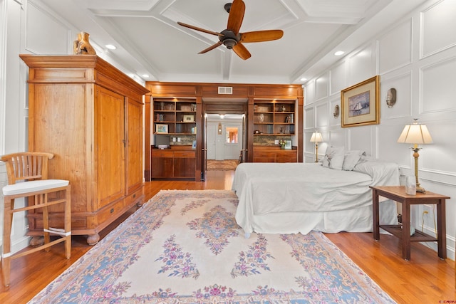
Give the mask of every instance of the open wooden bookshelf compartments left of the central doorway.
M 160 98 L 153 101 L 154 134 L 196 135 L 197 104 L 193 99 Z

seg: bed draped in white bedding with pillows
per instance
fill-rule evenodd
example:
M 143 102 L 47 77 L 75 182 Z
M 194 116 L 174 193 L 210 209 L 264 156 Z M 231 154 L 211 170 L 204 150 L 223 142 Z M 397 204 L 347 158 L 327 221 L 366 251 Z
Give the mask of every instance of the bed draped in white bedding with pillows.
M 328 148 L 329 150 L 329 148 Z M 363 152 L 326 154 L 321 163 L 242 163 L 232 189 L 239 198 L 236 221 L 246 238 L 252 232 L 308 234 L 373 229 L 373 185 L 398 185 L 399 167 L 363 156 Z M 340 154 L 340 151 L 339 151 Z M 351 166 L 344 166 L 349 154 Z M 329 157 L 328 157 L 329 156 Z M 329 164 L 328 164 L 329 161 Z M 331 163 L 332 162 L 332 163 Z M 380 204 L 380 222 L 396 224 L 394 201 Z

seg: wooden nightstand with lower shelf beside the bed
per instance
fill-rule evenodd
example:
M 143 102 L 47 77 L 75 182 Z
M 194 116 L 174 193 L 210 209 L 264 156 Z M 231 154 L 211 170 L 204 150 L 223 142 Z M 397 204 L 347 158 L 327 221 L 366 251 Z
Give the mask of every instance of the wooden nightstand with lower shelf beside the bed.
M 445 199 L 449 196 L 432 192 L 418 193 L 416 195 L 405 194 L 404 186 L 382 186 L 372 188 L 373 208 L 373 239 L 380 239 L 380 228 L 397 236 L 402 241 L 402 257 L 410 260 L 410 242 L 437 241 L 438 256 L 447 258 L 447 240 L 445 223 Z M 380 225 L 378 211 L 378 196 L 393 199 L 402 203 L 402 225 Z M 410 236 L 410 205 L 436 204 L 437 205 L 437 239 L 421 231 L 416 230 Z

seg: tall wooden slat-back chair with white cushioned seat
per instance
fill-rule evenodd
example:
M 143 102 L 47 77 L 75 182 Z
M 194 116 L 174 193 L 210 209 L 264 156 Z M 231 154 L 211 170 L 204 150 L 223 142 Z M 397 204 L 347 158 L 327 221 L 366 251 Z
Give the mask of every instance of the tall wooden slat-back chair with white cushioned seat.
M 51 158 L 53 158 L 53 154 L 41 152 L 21 152 L 0 157 L 0 160 L 6 163 L 6 172 L 8 174 L 8 185 L 3 188 L 4 229 L 3 252 L 1 255 L 1 267 L 5 286 L 8 286 L 10 283 L 9 274 L 12 258 L 19 258 L 41 249 L 48 251 L 48 247 L 63 241 L 65 242 L 66 258 L 70 258 L 71 187 L 67 180 L 47 179 L 48 159 Z M 33 196 L 33 199 L 29 199 L 26 206 L 14 209 L 14 199 L 30 196 Z M 65 219 L 63 228 L 49 227 L 48 206 L 56 204 L 63 204 L 64 206 Z M 31 209 L 42 209 L 43 211 L 44 243 L 41 246 L 24 249 L 24 251 L 19 251 L 19 253 L 11 254 L 11 225 L 13 215 L 15 212 Z M 61 237 L 51 241 L 50 234 Z

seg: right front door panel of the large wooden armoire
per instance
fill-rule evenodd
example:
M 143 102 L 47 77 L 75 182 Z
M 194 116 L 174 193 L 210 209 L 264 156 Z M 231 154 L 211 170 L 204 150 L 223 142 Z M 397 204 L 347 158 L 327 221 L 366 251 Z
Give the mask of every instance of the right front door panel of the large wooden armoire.
M 127 107 L 127 195 L 142 187 L 142 103 L 128 98 Z

